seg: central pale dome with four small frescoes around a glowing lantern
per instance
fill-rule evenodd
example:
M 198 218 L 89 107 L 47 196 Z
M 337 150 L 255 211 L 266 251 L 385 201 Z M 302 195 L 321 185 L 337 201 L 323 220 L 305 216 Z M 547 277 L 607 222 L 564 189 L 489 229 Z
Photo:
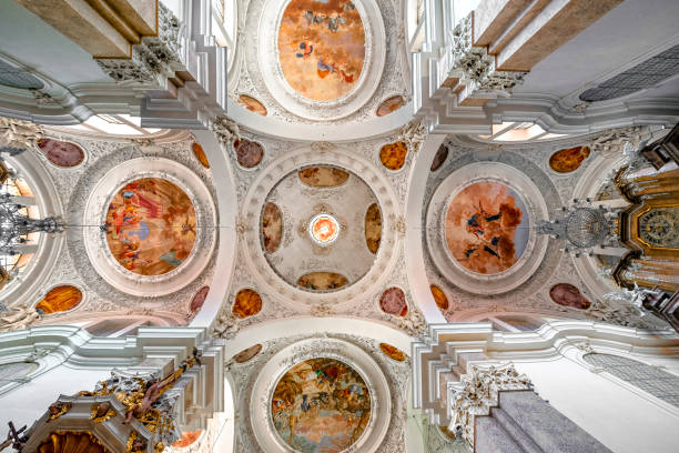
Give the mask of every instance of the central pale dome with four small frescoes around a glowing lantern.
M 375 261 L 371 246 L 376 251 L 382 234 L 377 200 L 365 181 L 325 165 L 285 175 L 266 197 L 260 222 L 268 264 L 288 284 L 311 292 L 359 280 Z

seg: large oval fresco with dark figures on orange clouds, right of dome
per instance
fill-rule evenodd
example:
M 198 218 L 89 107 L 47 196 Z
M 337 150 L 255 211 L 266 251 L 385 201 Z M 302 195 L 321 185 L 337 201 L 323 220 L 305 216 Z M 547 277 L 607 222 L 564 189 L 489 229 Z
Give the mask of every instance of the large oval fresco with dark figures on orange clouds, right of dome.
M 526 207 L 516 192 L 499 182 L 476 182 L 448 205 L 446 244 L 469 271 L 495 274 L 521 256 L 528 228 Z

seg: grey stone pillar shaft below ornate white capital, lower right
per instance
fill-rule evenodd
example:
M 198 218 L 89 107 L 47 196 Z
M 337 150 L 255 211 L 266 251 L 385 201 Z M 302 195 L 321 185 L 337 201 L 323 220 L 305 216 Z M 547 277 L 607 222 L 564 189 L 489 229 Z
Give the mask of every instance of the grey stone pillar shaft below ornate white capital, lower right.
M 535 392 L 499 392 L 497 407 L 476 417 L 477 453 L 610 452 Z

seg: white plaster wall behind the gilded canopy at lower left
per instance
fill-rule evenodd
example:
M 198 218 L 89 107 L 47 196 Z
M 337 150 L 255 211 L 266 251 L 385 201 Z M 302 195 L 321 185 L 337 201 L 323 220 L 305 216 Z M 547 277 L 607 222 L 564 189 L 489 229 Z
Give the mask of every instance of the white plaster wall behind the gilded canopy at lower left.
M 59 395 L 94 390 L 98 381 L 110 375 L 110 368 L 83 370 L 62 364 L 3 394 L 0 396 L 0 435 L 4 435 L 10 421 L 17 427 L 31 427 Z

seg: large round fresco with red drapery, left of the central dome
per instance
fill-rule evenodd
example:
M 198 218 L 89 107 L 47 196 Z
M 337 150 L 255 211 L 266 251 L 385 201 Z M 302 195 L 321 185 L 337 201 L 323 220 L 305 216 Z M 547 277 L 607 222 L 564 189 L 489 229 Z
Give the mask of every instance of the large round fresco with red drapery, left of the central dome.
M 195 211 L 170 181 L 144 178 L 118 191 L 107 213 L 107 242 L 115 260 L 140 275 L 162 275 L 189 258 Z

